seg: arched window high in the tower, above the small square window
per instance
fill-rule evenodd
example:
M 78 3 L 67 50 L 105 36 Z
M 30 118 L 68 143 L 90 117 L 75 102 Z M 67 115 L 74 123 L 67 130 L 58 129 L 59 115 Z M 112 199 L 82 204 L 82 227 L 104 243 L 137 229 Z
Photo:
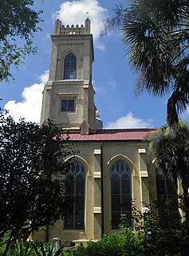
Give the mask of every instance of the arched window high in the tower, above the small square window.
M 65 57 L 64 79 L 76 79 L 77 59 L 74 54 L 68 54 Z

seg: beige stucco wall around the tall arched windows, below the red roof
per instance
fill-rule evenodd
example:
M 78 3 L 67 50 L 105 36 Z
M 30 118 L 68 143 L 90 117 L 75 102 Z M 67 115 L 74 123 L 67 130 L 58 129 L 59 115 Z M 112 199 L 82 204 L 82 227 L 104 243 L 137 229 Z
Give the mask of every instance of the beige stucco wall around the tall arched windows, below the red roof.
M 111 232 L 110 170 L 116 161 L 123 160 L 127 162 L 132 172 L 132 199 L 135 200 L 136 207 L 143 210 L 139 149 L 144 150 L 147 145 L 142 142 L 74 142 L 72 148 L 73 150 L 80 150 L 80 153 L 74 159 L 81 162 L 87 174 L 85 184 L 85 230 L 64 230 L 63 222 L 59 221 L 55 226 L 49 228 L 49 239 L 59 237 L 62 241 L 85 243 L 89 239 L 97 240 L 101 238 L 102 222 L 104 222 L 104 234 Z M 101 207 L 102 179 L 103 207 Z M 149 180 L 150 184 L 152 183 L 149 188 L 154 188 L 152 175 L 145 177 L 145 179 Z M 153 193 L 154 191 L 152 191 Z M 102 209 L 104 220 L 102 220 Z

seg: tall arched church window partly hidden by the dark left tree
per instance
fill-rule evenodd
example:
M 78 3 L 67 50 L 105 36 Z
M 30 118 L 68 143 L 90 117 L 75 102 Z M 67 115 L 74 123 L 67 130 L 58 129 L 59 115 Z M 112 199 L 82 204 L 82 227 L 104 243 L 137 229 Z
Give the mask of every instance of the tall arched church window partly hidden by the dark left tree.
M 74 162 L 66 174 L 66 194 L 73 202 L 65 217 L 65 230 L 85 229 L 85 169 L 80 162 Z

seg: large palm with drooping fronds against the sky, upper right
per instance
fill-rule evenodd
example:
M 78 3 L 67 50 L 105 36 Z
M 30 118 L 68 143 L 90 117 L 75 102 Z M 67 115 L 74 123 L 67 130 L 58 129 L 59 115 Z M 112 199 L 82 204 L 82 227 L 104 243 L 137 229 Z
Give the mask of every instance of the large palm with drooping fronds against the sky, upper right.
M 116 6 L 106 30 L 118 26 L 128 44 L 128 59 L 139 73 L 137 91 L 169 95 L 167 123 L 179 122 L 189 103 L 189 2 L 132 0 Z

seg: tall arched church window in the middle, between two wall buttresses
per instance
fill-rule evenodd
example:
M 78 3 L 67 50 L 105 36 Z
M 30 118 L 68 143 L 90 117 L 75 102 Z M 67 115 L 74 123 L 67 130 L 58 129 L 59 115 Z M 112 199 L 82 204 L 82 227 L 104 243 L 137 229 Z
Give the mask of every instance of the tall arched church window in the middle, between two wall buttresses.
M 112 229 L 120 225 L 121 215 L 126 216 L 128 226 L 132 226 L 132 186 L 131 172 L 126 162 L 116 162 L 111 169 Z

